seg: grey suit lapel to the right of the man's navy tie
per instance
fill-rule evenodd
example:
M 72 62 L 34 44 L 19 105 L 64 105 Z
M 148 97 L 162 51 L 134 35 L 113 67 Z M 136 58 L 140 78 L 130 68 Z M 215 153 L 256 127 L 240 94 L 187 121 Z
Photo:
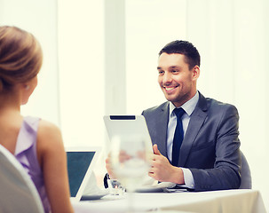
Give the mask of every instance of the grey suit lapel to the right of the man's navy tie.
M 199 130 L 202 127 L 202 123 L 207 117 L 207 102 L 206 99 L 200 93 L 200 98 L 197 106 L 194 108 L 193 114 L 191 114 L 190 122 L 188 124 L 186 135 L 183 139 L 182 146 L 180 148 L 178 166 L 184 166 L 186 159 L 190 153 L 190 150 L 194 144 Z

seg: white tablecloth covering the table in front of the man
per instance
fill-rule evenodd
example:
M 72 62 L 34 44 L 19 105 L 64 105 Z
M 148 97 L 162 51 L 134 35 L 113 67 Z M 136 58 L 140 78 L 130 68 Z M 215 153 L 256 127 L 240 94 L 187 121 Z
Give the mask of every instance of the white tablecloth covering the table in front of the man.
M 73 202 L 76 213 L 121 213 L 128 209 L 128 195 L 107 195 L 96 201 Z M 133 193 L 132 206 L 140 211 L 199 213 L 265 213 L 257 190 L 225 190 L 202 193 Z

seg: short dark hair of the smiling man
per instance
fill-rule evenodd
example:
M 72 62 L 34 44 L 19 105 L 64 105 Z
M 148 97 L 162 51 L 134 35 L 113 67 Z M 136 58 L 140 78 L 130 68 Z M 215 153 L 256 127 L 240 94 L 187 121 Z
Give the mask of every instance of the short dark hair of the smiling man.
M 196 65 L 200 67 L 200 54 L 197 51 L 196 47 L 194 47 L 193 43 L 176 40 L 176 41 L 167 43 L 159 52 L 159 56 L 163 52 L 167 54 L 178 53 L 178 54 L 185 55 L 186 63 L 189 65 L 190 69 Z

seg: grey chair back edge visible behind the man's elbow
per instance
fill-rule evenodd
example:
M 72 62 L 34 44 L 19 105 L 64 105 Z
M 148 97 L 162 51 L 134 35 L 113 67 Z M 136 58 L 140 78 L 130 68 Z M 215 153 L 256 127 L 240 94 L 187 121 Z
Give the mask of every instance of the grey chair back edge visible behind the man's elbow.
M 249 163 L 245 157 L 245 155 L 241 152 L 241 185 L 240 189 L 251 189 L 252 188 L 252 180 L 251 173 L 249 169 Z

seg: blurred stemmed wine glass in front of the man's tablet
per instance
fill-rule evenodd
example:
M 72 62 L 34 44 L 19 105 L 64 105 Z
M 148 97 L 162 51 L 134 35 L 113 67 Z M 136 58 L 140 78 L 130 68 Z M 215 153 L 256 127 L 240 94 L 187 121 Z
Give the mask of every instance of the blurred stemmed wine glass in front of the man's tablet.
M 116 179 L 128 193 L 130 212 L 134 212 L 132 193 L 148 174 L 150 154 L 142 136 L 128 135 L 111 140 L 111 167 Z

